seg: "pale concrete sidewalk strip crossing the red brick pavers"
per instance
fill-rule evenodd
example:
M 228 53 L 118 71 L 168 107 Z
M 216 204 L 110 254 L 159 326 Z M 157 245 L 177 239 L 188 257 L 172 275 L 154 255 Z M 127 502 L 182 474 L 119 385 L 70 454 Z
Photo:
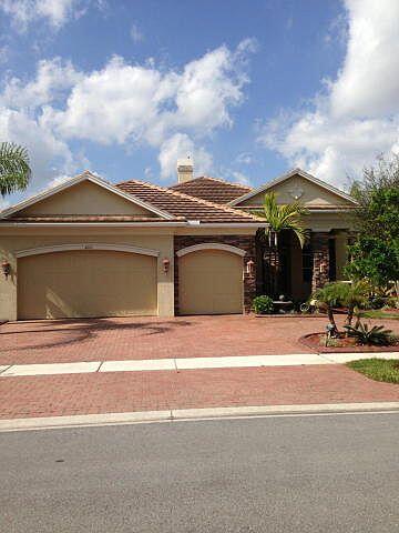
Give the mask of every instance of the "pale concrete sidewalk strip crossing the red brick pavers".
M 132 361 L 80 361 L 74 363 L 13 364 L 0 366 L 0 378 L 57 374 L 86 374 L 95 372 L 154 372 L 198 369 L 239 369 L 256 366 L 304 366 L 337 364 L 366 358 L 398 359 L 399 352 L 354 353 L 294 353 L 289 355 L 247 355 L 224 358 L 150 359 Z

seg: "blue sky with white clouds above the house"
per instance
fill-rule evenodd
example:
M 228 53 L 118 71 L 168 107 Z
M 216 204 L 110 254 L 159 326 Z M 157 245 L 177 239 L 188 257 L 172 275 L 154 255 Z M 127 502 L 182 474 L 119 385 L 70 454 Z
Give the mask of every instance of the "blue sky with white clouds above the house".
M 14 203 L 83 170 L 341 189 L 399 152 L 398 0 L 0 0 L 0 141 Z M 1 202 L 1 200 L 0 200 Z

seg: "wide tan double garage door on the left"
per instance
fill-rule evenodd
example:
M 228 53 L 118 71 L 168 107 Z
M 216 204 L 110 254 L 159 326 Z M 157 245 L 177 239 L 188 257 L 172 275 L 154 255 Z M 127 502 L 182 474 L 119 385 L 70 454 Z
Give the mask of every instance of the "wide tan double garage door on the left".
M 156 314 L 156 258 L 73 250 L 18 260 L 18 318 Z

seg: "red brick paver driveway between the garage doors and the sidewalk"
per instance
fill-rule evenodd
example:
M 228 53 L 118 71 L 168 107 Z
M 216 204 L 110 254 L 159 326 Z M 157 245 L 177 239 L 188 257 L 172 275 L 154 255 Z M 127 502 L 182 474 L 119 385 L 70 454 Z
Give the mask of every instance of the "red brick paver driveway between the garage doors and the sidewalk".
M 303 353 L 326 319 L 242 315 L 10 322 L 0 364 Z

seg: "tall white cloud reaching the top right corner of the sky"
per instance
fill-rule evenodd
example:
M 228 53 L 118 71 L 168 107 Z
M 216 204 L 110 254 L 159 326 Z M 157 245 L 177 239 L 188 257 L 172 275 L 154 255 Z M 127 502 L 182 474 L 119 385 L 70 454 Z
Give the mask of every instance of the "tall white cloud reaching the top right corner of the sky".
M 345 185 L 399 142 L 399 2 L 347 0 L 348 42 L 337 79 L 310 109 L 283 112 L 259 140 L 291 164 Z

